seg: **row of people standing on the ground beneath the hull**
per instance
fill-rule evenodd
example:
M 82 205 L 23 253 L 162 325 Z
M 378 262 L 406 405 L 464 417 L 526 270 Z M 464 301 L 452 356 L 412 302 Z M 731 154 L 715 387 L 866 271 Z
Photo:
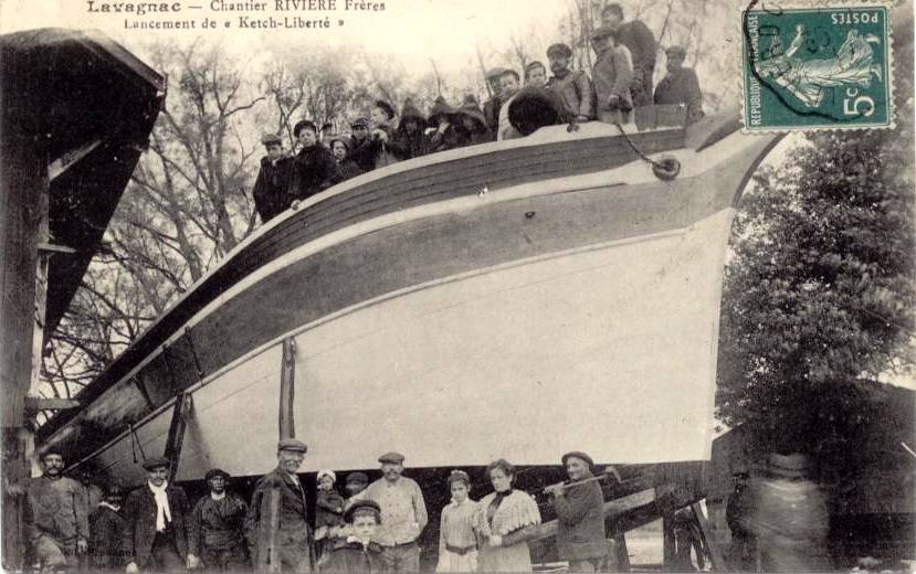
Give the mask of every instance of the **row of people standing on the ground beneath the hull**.
M 307 450 L 295 438 L 281 440 L 277 466 L 256 482 L 250 503 L 214 468 L 204 477 L 208 493 L 189 504 L 185 490 L 169 482 L 165 458 L 146 459 L 146 482 L 126 497 L 117 487 L 93 495 L 63 476 L 64 457 L 50 449 L 43 476 L 28 489 L 34 562 L 42 572 L 420 572 L 418 540 L 429 519 L 419 485 L 403 476 L 404 456 L 381 455 L 382 477 L 373 482 L 350 472 L 346 497 L 333 470 L 318 471 L 309 506 L 298 475 Z M 559 559 L 571 572 L 596 572 L 609 544 L 594 463 L 580 451 L 561 461 L 569 479 L 545 490 L 558 519 Z M 531 571 L 527 542 L 541 514 L 530 495 L 514 488 L 515 477 L 510 463 L 493 461 L 486 468 L 493 492 L 474 501 L 471 477 L 449 475 L 436 572 Z

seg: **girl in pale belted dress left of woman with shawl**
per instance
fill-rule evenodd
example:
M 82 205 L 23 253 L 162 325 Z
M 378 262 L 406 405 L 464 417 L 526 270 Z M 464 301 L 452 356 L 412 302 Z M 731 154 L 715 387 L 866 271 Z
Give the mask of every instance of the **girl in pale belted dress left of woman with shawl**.
M 477 540 L 474 535 L 474 515 L 477 503 L 467 498 L 471 479 L 463 470 L 449 475 L 452 501 L 442 509 L 439 529 L 439 565 L 436 572 L 476 572 Z

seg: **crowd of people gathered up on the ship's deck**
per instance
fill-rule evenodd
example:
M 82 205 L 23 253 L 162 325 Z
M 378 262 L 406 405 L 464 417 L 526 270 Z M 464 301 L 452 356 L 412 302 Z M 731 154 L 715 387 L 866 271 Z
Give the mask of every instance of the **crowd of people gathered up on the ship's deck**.
M 280 136 L 264 135 L 261 141 L 267 155 L 253 190 L 262 222 L 335 183 L 397 161 L 522 137 L 526 130 L 519 130 L 509 115 L 520 94 L 554 103 L 558 118 L 570 121 L 627 124 L 633 121 L 635 110 L 653 105 L 680 109 L 685 124 L 703 117 L 696 73 L 684 67 L 686 51 L 677 45 L 665 49 L 667 73 L 653 86 L 655 36 L 642 21 L 627 21 L 620 4 L 604 7 L 601 25 L 591 33 L 591 47 L 596 54 L 591 75 L 572 70 L 573 52 L 564 43 L 547 50 L 549 77 L 540 61 L 528 63 L 520 73 L 487 71 L 492 97 L 483 107 L 473 95 L 457 107 L 440 96 L 429 114 L 407 100 L 398 115 L 392 103 L 380 99 L 368 118 L 350 121 L 349 135 L 326 137 L 314 121 L 298 121 L 293 128 L 293 148 L 299 148 L 295 155 L 284 150 Z

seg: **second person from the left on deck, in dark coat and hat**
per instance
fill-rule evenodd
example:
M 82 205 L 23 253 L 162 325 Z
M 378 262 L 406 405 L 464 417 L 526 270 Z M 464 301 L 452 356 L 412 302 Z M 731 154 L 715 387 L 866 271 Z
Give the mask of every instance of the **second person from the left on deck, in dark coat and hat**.
M 307 119 L 297 123 L 293 134 L 302 144 L 302 149 L 293 160 L 289 183 L 295 206 L 299 201 L 344 181 L 344 176 L 330 150 L 318 144 L 318 128 L 314 123 Z

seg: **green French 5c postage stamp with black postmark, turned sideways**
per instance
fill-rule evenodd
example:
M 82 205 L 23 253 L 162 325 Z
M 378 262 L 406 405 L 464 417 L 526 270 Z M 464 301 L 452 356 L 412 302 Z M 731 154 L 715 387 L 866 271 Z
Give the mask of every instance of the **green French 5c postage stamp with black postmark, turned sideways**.
M 885 6 L 754 1 L 741 19 L 745 131 L 893 125 Z

